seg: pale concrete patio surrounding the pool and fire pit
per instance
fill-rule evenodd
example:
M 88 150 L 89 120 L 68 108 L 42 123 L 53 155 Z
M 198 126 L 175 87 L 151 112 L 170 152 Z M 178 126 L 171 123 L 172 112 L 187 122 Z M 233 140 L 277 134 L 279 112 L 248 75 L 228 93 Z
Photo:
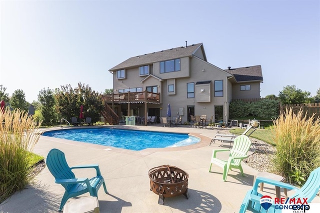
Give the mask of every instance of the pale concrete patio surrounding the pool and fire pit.
M 235 169 L 229 171 L 224 182 L 222 168 L 216 165 L 212 166 L 214 172 L 208 172 L 212 149 L 229 147 L 225 142 L 216 142 L 209 146 L 216 129 L 159 125 L 114 127 L 188 132 L 202 140 L 183 147 L 131 151 L 40 136 L 33 150 L 37 154 L 46 156 L 51 148 L 58 148 L 65 153 L 70 166 L 99 164 L 109 192 L 105 194 L 102 187 L 98 191 L 100 212 L 237 212 L 246 191 L 251 188 L 253 176 L 257 173 L 244 163 L 245 177 Z M 163 164 L 177 166 L 189 174 L 189 199 L 181 195 L 165 198 L 163 205 L 157 203 L 158 195 L 150 191 L 148 170 Z M 74 173 L 76 177 L 95 175 L 94 169 L 74 169 Z M 53 176 L 45 167 L 36 176 L 34 183 L 2 202 L 0 211 L 57 212 L 63 193 L 64 188 L 54 183 Z M 274 188 L 270 188 L 270 193 L 275 196 Z M 88 195 L 85 193 L 79 197 Z

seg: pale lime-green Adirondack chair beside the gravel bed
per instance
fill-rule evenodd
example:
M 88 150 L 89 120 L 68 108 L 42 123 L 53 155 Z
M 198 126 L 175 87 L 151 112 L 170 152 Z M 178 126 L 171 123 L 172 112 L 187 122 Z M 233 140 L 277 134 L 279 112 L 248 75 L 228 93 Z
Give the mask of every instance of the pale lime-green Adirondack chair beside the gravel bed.
M 242 161 L 242 159 L 247 157 L 246 153 L 248 152 L 250 146 L 251 146 L 251 141 L 250 141 L 249 137 L 243 134 L 243 135 L 240 135 L 240 136 L 237 136 L 236 138 L 234 138 L 233 146 L 231 149 L 228 149 L 228 148 L 227 149 L 213 149 L 209 172 L 211 171 L 212 163 L 214 163 L 214 164 L 223 168 L 223 175 L 222 175 L 223 181 L 226 180 L 226 177 L 228 175 L 228 171 L 229 171 L 229 169 L 231 170 L 231 168 L 239 169 L 242 176 L 244 176 L 243 169 L 241 166 L 241 161 Z M 229 151 L 230 152 L 228 160 L 217 158 L 217 156 L 216 156 L 217 153 L 221 152 L 221 151 Z

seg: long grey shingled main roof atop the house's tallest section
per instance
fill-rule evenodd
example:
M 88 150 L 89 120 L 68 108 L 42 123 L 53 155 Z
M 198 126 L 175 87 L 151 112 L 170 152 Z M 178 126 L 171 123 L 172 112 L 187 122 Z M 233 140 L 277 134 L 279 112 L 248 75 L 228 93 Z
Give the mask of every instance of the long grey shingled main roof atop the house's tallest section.
M 117 64 L 116 66 L 110 68 L 109 71 L 115 71 L 123 68 L 139 66 L 139 65 L 146 65 L 146 64 L 157 62 L 157 61 L 191 56 L 201 46 L 204 54 L 202 43 L 192 44 L 186 47 L 179 46 L 175 48 L 170 48 L 166 50 L 161 50 L 157 52 L 130 57 L 124 60 L 123 62 Z M 204 58 L 205 58 L 205 54 L 204 54 Z

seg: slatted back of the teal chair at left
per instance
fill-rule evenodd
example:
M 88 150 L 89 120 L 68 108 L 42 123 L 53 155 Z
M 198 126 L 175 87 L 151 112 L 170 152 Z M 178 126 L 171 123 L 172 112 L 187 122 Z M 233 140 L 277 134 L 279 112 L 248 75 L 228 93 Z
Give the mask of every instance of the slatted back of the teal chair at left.
M 75 178 L 65 160 L 64 153 L 59 149 L 53 148 L 49 151 L 46 156 L 46 165 L 55 179 Z M 72 184 L 63 185 L 63 187 L 68 190 L 72 187 Z

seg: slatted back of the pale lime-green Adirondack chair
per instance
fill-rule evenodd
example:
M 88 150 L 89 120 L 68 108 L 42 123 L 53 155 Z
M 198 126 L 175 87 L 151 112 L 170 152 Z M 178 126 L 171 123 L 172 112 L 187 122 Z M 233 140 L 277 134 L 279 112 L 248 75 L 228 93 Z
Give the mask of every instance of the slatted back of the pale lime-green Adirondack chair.
M 230 156 L 236 157 L 236 156 L 242 156 L 245 155 L 249 148 L 251 146 L 250 138 L 246 135 L 239 135 L 236 138 L 234 138 L 233 146 L 230 150 Z M 234 159 L 234 164 L 240 164 L 241 159 Z

